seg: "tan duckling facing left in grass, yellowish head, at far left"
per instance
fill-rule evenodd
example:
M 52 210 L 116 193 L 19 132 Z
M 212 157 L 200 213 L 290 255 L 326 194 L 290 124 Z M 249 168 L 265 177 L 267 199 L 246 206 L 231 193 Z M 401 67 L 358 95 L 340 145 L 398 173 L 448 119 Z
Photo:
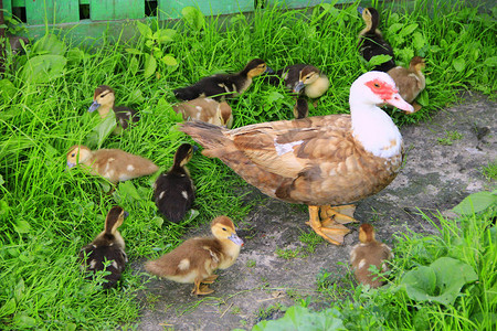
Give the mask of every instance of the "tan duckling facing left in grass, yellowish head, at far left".
M 120 149 L 92 151 L 82 145 L 71 147 L 67 152 L 67 167 L 71 169 L 77 164 L 83 164 L 91 174 L 99 174 L 114 184 L 159 170 L 152 161 Z

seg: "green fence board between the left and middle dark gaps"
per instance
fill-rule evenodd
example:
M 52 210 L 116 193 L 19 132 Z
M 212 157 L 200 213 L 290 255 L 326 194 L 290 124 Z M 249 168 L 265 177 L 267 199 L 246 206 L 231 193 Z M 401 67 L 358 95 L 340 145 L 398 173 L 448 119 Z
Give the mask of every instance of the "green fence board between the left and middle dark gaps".
M 29 0 L 25 2 L 29 25 L 70 23 L 80 21 L 78 0 Z

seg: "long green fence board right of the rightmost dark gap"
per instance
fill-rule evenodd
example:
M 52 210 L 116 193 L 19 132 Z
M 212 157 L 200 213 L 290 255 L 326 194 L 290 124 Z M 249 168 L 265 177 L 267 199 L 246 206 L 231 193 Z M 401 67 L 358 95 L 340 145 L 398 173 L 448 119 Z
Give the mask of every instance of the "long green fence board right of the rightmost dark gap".
M 181 18 L 181 10 L 184 7 L 195 7 L 204 15 L 219 15 L 253 11 L 254 0 L 159 0 L 159 19 Z

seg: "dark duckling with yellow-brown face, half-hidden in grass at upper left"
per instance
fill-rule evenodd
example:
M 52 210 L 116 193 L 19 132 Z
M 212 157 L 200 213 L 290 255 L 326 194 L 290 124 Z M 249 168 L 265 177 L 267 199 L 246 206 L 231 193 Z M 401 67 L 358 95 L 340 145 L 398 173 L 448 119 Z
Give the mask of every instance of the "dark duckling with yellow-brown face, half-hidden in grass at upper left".
M 114 89 L 107 85 L 101 85 L 95 89 L 93 95 L 93 103 L 89 106 L 88 111 L 93 113 L 98 109 L 98 115 L 104 119 L 107 117 L 109 111 L 114 110 L 119 126 L 114 130 L 114 134 L 119 135 L 123 130 L 126 130 L 131 122 L 137 122 L 139 120 L 136 110 L 118 106 L 114 107 L 114 100 L 116 96 Z

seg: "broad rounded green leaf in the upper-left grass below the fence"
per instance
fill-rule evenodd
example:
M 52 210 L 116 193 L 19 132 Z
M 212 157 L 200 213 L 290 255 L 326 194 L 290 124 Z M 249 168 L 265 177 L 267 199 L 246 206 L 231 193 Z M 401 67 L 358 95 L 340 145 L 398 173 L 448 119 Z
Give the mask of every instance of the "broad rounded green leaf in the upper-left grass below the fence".
M 29 83 L 47 83 L 62 76 L 66 63 L 61 55 L 38 55 L 24 64 L 21 77 Z

